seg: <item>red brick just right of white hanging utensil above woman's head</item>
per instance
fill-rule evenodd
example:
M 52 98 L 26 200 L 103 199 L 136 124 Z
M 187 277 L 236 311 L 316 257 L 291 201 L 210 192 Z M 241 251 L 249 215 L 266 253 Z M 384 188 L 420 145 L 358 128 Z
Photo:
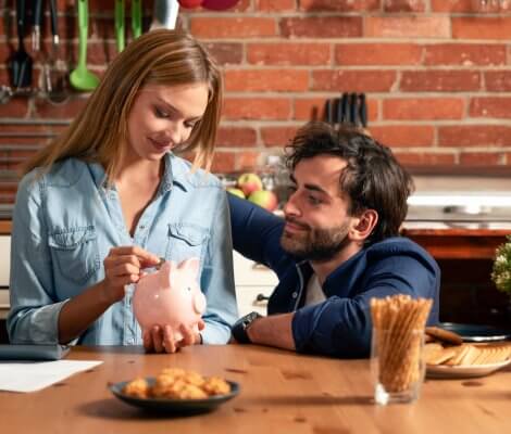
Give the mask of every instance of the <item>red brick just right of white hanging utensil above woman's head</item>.
M 190 20 L 190 33 L 201 39 L 258 38 L 275 36 L 277 24 L 274 18 L 265 17 L 199 17 Z

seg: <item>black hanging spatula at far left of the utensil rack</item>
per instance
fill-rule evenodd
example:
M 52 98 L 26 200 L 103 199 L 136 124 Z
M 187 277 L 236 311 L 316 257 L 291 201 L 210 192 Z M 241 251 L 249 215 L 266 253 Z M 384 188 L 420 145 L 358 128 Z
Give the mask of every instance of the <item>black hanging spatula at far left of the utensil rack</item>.
M 32 58 L 25 50 L 23 37 L 25 35 L 25 0 L 16 1 L 16 21 L 17 21 L 17 51 L 9 61 L 11 72 L 11 82 L 14 89 L 32 86 Z

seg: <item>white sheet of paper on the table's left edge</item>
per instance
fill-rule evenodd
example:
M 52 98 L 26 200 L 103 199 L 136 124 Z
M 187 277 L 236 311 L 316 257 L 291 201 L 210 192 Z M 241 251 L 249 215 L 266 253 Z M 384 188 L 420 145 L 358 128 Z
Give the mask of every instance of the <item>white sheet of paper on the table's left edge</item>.
M 0 391 L 36 392 L 86 371 L 102 360 L 57 360 L 0 362 Z

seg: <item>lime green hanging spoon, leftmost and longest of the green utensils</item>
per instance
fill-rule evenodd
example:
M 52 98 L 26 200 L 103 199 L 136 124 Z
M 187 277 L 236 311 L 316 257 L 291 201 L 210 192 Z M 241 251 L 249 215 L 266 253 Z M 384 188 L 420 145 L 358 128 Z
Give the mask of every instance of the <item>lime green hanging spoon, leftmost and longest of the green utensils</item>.
M 99 78 L 87 69 L 87 36 L 89 27 L 88 0 L 78 1 L 78 65 L 70 75 L 71 85 L 78 90 L 94 90 Z

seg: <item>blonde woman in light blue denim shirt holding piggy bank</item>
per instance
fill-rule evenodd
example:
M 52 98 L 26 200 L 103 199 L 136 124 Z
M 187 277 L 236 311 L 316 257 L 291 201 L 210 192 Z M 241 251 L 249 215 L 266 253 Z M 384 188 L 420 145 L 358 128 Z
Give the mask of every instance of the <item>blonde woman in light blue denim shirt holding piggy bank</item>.
M 13 343 L 141 344 L 173 353 L 226 343 L 237 317 L 225 192 L 207 171 L 221 74 L 191 37 L 132 42 L 68 130 L 25 168 L 13 215 Z M 195 151 L 194 166 L 175 156 Z M 160 257 L 200 257 L 200 334 L 140 331 L 133 283 Z M 103 267 L 102 267 L 103 265 Z

